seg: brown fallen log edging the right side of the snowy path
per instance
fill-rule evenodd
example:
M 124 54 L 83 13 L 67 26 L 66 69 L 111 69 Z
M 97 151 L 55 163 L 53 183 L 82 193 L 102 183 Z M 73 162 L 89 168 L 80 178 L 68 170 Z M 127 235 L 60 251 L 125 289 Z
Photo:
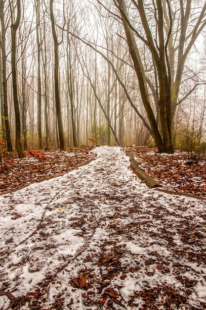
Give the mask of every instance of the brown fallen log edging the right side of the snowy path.
M 134 173 L 138 176 L 142 182 L 144 182 L 149 188 L 159 187 L 160 185 L 151 178 L 144 170 L 142 170 L 139 166 L 134 157 L 126 152 L 126 156 L 129 157 L 130 160 L 130 167 L 134 171 Z

